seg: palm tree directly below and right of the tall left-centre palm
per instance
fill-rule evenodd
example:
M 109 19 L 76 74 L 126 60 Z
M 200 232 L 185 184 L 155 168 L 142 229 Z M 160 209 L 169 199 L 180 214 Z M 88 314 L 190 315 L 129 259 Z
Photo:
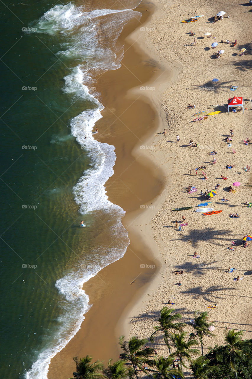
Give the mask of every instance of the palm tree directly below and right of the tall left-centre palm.
M 184 363 L 184 358 L 191 360 L 191 354 L 199 354 L 198 349 L 193 349 L 192 347 L 194 345 L 199 345 L 198 341 L 196 340 L 188 340 L 185 341 L 185 336 L 187 335 L 187 332 L 182 332 L 180 334 L 173 334 L 171 335 L 171 339 L 173 340 L 174 347 L 176 351 L 171 354 L 171 357 L 176 357 L 180 360 L 180 368 L 183 373 L 183 366 L 187 367 Z

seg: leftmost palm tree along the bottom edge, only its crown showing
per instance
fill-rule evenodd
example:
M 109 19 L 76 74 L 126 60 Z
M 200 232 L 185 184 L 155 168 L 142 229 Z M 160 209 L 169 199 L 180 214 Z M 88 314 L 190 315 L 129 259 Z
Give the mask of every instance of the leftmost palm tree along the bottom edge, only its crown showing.
M 99 360 L 91 363 L 93 358 L 86 356 L 84 358 L 73 357 L 76 363 L 76 373 L 80 379 L 101 379 L 104 378 L 101 370 L 104 365 Z M 74 374 L 76 374 L 74 373 Z

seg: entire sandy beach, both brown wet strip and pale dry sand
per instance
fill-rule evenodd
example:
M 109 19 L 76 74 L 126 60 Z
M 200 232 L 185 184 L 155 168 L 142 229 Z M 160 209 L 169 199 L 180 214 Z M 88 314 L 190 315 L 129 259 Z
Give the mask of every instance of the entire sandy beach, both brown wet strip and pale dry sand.
M 195 9 L 204 17 L 190 25 L 181 23 L 192 17 Z M 223 20 L 209 21 L 222 9 L 226 12 Z M 93 307 L 79 332 L 51 360 L 50 379 L 70 377 L 75 355 L 89 354 L 104 362 L 116 359 L 118 337 L 151 335 L 153 321 L 169 299 L 184 322 L 195 310 L 205 311 L 217 304 L 216 309 L 208 310 L 216 322 L 217 337 L 207 341 L 205 351 L 207 346 L 223 342 L 226 327 L 244 330 L 246 338 L 252 336 L 251 246 L 227 249 L 232 240 L 251 233 L 251 208 L 244 206 L 251 201 L 251 173 L 244 171 L 244 166 L 251 165 L 251 144 L 245 146 L 242 141 L 251 138 L 248 8 L 227 2 L 203 2 L 199 7 L 196 2 L 189 6 L 162 0 L 143 2 L 137 10 L 143 14 L 141 25 L 134 26 L 130 36 L 129 30 L 121 36 L 126 38 L 122 67 L 104 74 L 96 85 L 106 105 L 103 119 L 97 123 L 98 138 L 114 144 L 117 153 L 115 175 L 106 189 L 110 201 L 126 211 L 123 224 L 131 242 L 121 260 L 86 283 L 84 289 Z M 191 29 L 194 37 L 188 34 Z M 204 38 L 208 31 L 212 37 Z M 221 43 L 226 39 L 238 39 L 238 45 Z M 225 50 L 220 59 L 213 58 L 218 51 L 212 49 L 213 42 Z M 247 52 L 240 57 L 243 47 Z M 213 78 L 219 81 L 213 83 Z M 230 92 L 231 84 L 238 89 Z M 233 96 L 243 96 L 248 109 L 244 114 L 227 113 L 227 100 Z M 187 110 L 189 103 L 195 104 L 195 109 Z M 221 113 L 191 122 L 193 114 L 210 105 L 219 108 L 209 112 L 217 109 Z M 119 121 L 127 127 L 117 127 Z M 164 129 L 166 134 L 162 134 Z M 224 139 L 230 136 L 230 129 L 234 136 L 228 147 Z M 198 147 L 190 148 L 190 139 Z M 207 155 L 212 150 L 218 152 L 216 164 L 212 164 L 214 156 Z M 227 164 L 236 166 L 226 169 Z M 195 175 L 195 168 L 201 165 L 207 180 L 202 179 L 201 170 Z M 224 181 L 221 174 L 229 178 Z M 228 193 L 226 188 L 236 181 L 240 187 Z M 212 190 L 217 183 L 217 195 L 209 201 L 214 210 L 222 212 L 211 216 L 196 213 L 194 207 L 205 201 L 200 191 Z M 188 185 L 196 186 L 197 192 L 188 194 Z M 222 202 L 223 196 L 229 201 Z M 193 209 L 171 211 L 185 206 Z M 229 213 L 236 212 L 241 217 L 230 219 Z M 182 216 L 188 225 L 179 232 L 175 220 L 181 222 Z M 194 251 L 200 258 L 192 257 Z M 236 267 L 235 275 L 225 272 L 229 267 Z M 184 270 L 182 276 L 174 276 L 178 269 Z M 235 282 L 237 275 L 243 280 Z M 180 279 L 182 286 L 178 287 L 175 283 Z

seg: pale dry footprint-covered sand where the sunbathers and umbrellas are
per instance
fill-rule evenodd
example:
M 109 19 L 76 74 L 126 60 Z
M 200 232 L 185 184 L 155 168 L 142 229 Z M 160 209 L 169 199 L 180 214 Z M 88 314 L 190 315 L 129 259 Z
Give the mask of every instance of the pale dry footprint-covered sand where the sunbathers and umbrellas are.
M 181 23 L 182 20 L 196 15 L 205 15 L 193 23 Z M 145 43 L 149 49 L 165 61 L 168 67 L 176 72 L 176 78 L 170 82 L 164 92 L 154 91 L 156 103 L 160 102 L 163 112 L 163 124 L 160 132 L 166 128 L 166 135 L 156 134 L 152 138 L 152 146 L 156 146 L 153 159 L 166 171 L 166 186 L 162 196 L 157 200 L 161 208 L 151 220 L 154 240 L 159 246 L 155 257 L 162 261 L 159 285 L 155 285 L 145 294 L 145 298 L 129 312 L 131 320 L 129 336 L 149 337 L 154 331 L 154 320 L 159 317 L 159 311 L 171 299 L 174 307 L 183 316 L 183 321 L 193 318 L 195 310 L 208 311 L 209 319 L 216 322 L 214 340 L 205 341 L 207 346 L 224 343 L 224 329 L 244 330 L 245 338 L 252 338 L 251 326 L 251 244 L 247 249 L 241 246 L 235 251 L 227 249 L 232 240 L 241 240 L 251 233 L 251 208 L 244 206 L 252 200 L 251 171 L 245 172 L 244 166 L 251 166 L 251 148 L 242 142 L 251 137 L 250 97 L 251 87 L 251 34 L 247 28 L 250 15 L 246 6 L 230 4 L 229 2 L 190 2 L 176 3 L 172 1 L 157 2 L 157 11 L 148 24 L 149 31 L 145 33 Z M 209 22 L 209 17 L 224 10 L 226 15 L 222 21 Z M 188 15 L 189 14 L 189 15 Z M 230 18 L 225 18 L 227 16 Z M 196 46 L 191 45 L 194 37 L 189 31 L 196 33 Z M 212 33 L 212 38 L 204 38 L 204 33 Z M 213 38 L 215 37 L 215 38 Z M 221 40 L 234 41 L 238 46 L 230 47 L 220 43 Z M 218 42 L 219 49 L 225 53 L 220 59 L 212 59 L 211 44 Z M 247 49 L 247 55 L 239 57 L 241 48 Z M 218 83 L 212 83 L 218 78 Z M 236 91 L 230 91 L 230 85 L 238 86 Z M 240 113 L 227 113 L 227 100 L 233 96 L 243 96 L 244 110 Z M 188 104 L 195 104 L 193 110 L 185 109 Z M 193 114 L 205 110 L 209 105 L 221 110 L 216 116 L 208 116 L 202 122 L 191 122 Z M 228 147 L 224 138 L 234 131 L 232 146 Z M 176 135 L 180 136 L 179 143 Z M 193 139 L 199 147 L 189 147 Z M 234 149 L 236 153 L 233 153 Z M 209 156 L 208 152 L 216 150 L 217 155 Z M 217 163 L 212 164 L 213 157 Z M 226 169 L 226 164 L 235 164 L 232 169 Z M 202 180 L 202 170 L 195 175 L 194 169 L 205 166 L 208 179 Z M 192 172 L 190 176 L 190 170 Z M 220 175 L 229 177 L 221 180 Z M 233 182 L 239 181 L 241 186 L 236 193 L 226 192 Z M 213 189 L 217 183 L 220 187 L 217 195 L 208 201 L 213 202 L 215 210 L 222 210 L 218 215 L 202 216 L 191 210 L 172 212 L 177 207 L 193 206 L 207 201 L 200 197 L 201 189 Z M 188 194 L 188 185 L 196 186 L 196 193 Z M 228 202 L 220 199 L 226 197 Z M 165 199 L 165 200 L 164 200 Z M 212 207 L 212 205 L 211 205 Z M 238 213 L 240 218 L 229 218 L 229 213 Z M 175 220 L 185 222 L 181 232 L 176 229 Z M 201 258 L 193 258 L 194 251 Z M 155 262 L 155 260 L 154 260 Z M 236 267 L 234 274 L 225 272 L 229 267 Z M 184 274 L 175 276 L 174 270 L 183 269 Z M 235 282 L 237 275 L 243 277 L 241 282 Z M 174 285 L 182 280 L 181 287 Z M 155 288 L 156 286 L 156 288 Z M 217 304 L 216 309 L 207 306 Z M 192 329 L 193 330 L 193 329 Z M 129 337 L 127 336 L 127 337 Z M 160 346 L 157 344 L 160 351 Z

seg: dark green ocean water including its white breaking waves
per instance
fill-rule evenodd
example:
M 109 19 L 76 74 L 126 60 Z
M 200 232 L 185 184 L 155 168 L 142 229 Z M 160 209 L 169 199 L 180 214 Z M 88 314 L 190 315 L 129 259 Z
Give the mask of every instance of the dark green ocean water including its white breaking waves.
M 120 67 L 138 3 L 1 5 L 3 377 L 47 378 L 92 306 L 83 283 L 129 244 L 106 195 L 115 148 L 94 138 L 95 78 Z

